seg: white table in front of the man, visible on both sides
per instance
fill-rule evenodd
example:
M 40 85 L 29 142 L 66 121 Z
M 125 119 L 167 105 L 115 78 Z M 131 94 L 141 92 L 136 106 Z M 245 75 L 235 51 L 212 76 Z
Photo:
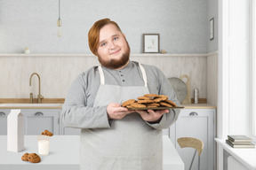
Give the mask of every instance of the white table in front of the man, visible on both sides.
M 7 151 L 7 136 L 0 135 L 0 169 L 79 170 L 79 135 L 54 135 L 50 140 L 50 153 L 48 156 L 40 156 L 40 163 L 22 161 L 24 153 L 38 153 L 36 140 L 36 135 L 25 135 L 25 150 L 12 152 Z M 184 163 L 167 135 L 163 136 L 163 145 L 164 170 L 184 170 Z

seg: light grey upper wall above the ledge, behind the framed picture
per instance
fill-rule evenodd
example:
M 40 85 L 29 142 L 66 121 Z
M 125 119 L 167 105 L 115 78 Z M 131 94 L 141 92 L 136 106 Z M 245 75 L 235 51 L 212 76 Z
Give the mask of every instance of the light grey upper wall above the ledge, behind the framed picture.
M 58 0 L 0 0 L 0 53 L 26 47 L 31 53 L 91 53 L 87 33 L 102 18 L 116 20 L 132 53 L 142 52 L 143 33 L 159 33 L 160 50 L 168 53 L 208 53 L 217 50 L 217 32 L 209 42 L 208 31 L 209 18 L 217 17 L 216 1 L 61 0 L 63 37 L 58 38 Z

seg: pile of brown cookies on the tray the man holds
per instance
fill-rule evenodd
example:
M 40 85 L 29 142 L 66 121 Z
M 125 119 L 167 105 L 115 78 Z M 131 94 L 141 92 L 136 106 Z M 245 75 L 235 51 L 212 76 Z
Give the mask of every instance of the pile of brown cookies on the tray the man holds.
M 165 95 L 146 94 L 143 97 L 137 97 L 138 100 L 130 99 L 122 104 L 127 108 L 148 108 L 148 107 L 176 107 Z

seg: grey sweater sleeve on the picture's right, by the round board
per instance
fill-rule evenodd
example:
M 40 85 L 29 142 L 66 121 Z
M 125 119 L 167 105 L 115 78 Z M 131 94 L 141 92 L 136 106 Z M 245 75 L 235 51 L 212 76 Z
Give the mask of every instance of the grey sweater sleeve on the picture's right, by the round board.
M 149 75 L 148 75 L 149 74 Z M 157 67 L 153 66 L 151 71 L 149 70 L 147 73 L 147 77 L 153 77 L 154 79 L 148 80 L 148 88 L 150 93 L 155 93 L 159 95 L 165 95 L 169 100 L 172 100 L 178 106 L 180 102 L 177 99 L 176 93 L 172 89 L 172 85 L 165 77 L 164 73 L 162 73 Z M 149 126 L 156 129 L 164 129 L 169 128 L 179 117 L 180 109 L 170 109 L 169 112 L 164 113 L 162 119 L 159 123 L 150 124 Z

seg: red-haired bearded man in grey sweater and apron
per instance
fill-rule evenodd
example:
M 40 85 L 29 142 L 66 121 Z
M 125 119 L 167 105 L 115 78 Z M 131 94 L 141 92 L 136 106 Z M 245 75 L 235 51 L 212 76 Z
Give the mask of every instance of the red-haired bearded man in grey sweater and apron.
M 66 127 L 81 128 L 80 168 L 162 169 L 162 129 L 177 120 L 180 110 L 129 111 L 120 104 L 159 94 L 179 105 L 169 81 L 155 66 L 129 60 L 129 44 L 116 22 L 95 22 L 88 40 L 101 66 L 76 78 L 62 109 Z

